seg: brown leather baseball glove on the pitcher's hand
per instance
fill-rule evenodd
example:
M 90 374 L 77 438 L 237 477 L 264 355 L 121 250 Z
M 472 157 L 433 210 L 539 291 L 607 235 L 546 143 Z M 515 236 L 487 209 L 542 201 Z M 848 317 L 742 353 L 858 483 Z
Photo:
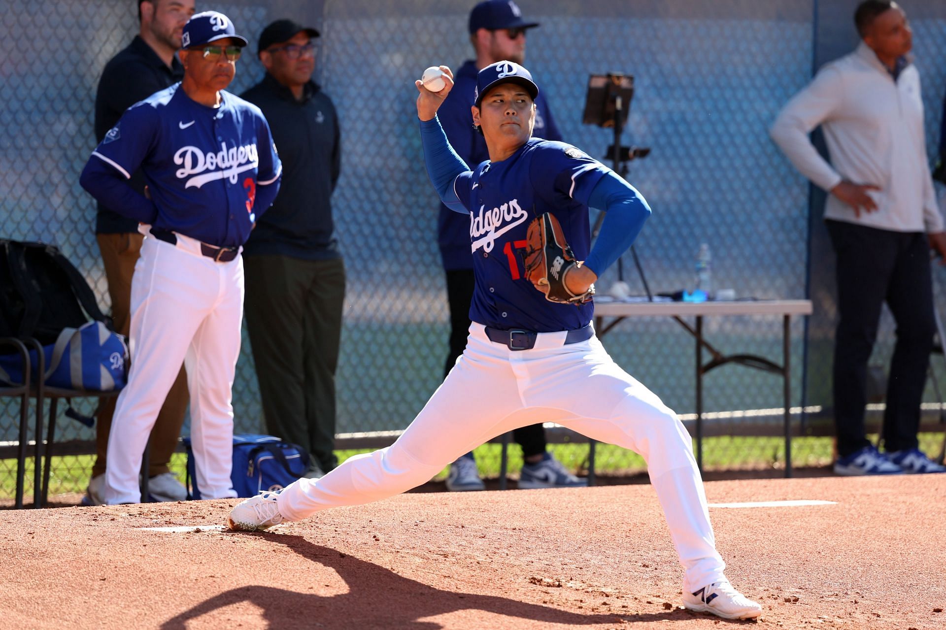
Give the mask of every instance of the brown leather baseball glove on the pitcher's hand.
M 525 269 L 526 278 L 535 289 L 545 293 L 545 299 L 558 304 L 585 304 L 594 295 L 594 285 L 587 291 L 575 295 L 565 286 L 565 276 L 579 266 L 575 254 L 565 242 L 565 234 L 558 219 L 545 213 L 533 219 L 526 234 Z

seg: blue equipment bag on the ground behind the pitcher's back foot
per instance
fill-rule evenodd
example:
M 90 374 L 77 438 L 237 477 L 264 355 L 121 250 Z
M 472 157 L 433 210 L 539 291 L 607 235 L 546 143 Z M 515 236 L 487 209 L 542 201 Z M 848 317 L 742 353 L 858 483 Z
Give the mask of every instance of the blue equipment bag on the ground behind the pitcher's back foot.
M 201 499 L 194 468 L 190 437 L 187 448 L 187 487 L 191 499 Z M 281 490 L 308 470 L 308 452 L 272 435 L 234 435 L 234 463 L 230 472 L 237 497 L 254 497 L 264 491 Z

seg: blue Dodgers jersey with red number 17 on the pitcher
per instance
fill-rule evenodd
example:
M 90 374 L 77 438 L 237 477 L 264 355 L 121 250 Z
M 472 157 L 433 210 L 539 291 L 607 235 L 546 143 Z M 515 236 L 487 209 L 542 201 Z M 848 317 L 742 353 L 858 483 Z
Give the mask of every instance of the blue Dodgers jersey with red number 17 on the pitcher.
M 550 302 L 525 277 L 523 254 L 532 219 L 551 212 L 578 260 L 591 246 L 587 200 L 610 169 L 564 142 L 532 139 L 502 162 L 483 162 L 453 187 L 469 210 L 476 289 L 470 319 L 496 328 L 554 332 L 591 321 L 593 303 Z

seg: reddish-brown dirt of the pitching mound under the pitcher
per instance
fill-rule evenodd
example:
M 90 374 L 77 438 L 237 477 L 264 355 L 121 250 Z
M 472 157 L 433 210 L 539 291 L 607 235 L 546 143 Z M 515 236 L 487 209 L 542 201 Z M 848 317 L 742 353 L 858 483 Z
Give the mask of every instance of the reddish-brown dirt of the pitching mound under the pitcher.
M 761 621 L 679 607 L 653 489 L 410 494 L 268 534 L 235 501 L 0 513 L 2 628 L 946 627 L 946 475 L 710 481 L 727 574 Z M 155 531 L 145 528 L 167 528 Z

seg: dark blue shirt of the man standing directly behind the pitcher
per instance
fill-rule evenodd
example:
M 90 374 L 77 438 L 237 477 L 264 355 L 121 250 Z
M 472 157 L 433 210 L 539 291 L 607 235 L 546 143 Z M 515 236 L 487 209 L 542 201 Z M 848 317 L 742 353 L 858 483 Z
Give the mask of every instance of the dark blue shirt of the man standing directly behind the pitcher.
M 453 89 L 437 111 L 437 117 L 444 131 L 447 132 L 450 146 L 466 164 L 471 166 L 489 159 L 486 141 L 481 133 L 473 129 L 473 115 L 470 114 L 470 106 L 474 101 L 473 93 L 476 90 L 477 72 L 476 63 L 466 61 L 454 75 Z M 552 118 L 552 111 L 549 110 L 549 105 L 541 92 L 535 97 L 533 137 L 545 140 L 562 139 L 562 134 Z M 437 241 L 440 245 L 444 269 L 448 271 L 472 269 L 473 260 L 466 249 L 466 231 L 465 218 L 451 212 L 446 205 L 441 204 L 440 217 L 437 219 Z

